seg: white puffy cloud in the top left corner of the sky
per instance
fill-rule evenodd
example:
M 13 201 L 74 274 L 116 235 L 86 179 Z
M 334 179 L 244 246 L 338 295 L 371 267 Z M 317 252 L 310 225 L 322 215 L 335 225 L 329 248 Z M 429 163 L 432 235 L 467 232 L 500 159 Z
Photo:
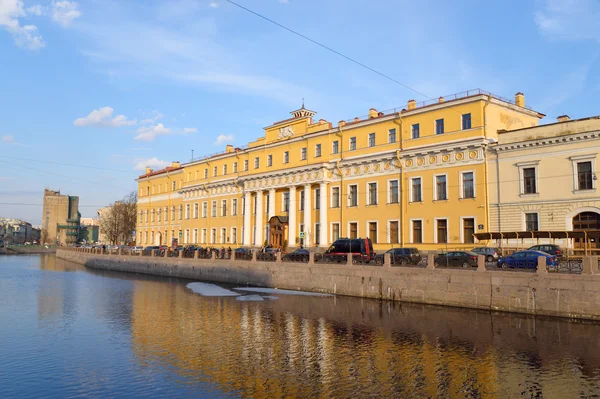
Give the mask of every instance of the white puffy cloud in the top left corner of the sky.
M 21 25 L 19 18 L 26 16 L 23 0 L 0 0 L 0 27 L 9 32 L 15 44 L 29 50 L 39 50 L 46 43 L 35 25 Z

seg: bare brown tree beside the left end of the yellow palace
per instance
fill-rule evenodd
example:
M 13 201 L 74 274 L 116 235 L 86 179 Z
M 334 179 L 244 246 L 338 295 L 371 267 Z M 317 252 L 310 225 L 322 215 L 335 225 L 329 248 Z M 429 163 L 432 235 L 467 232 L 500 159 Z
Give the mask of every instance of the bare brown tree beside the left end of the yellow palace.
M 132 192 L 100 212 L 100 231 L 111 244 L 131 240 L 137 217 L 137 194 Z

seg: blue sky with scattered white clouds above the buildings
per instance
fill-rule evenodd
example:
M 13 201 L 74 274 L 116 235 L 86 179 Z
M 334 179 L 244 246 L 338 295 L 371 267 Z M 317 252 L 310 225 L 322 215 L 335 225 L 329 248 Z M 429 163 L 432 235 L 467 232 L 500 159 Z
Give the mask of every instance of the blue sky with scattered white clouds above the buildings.
M 431 98 L 600 114 L 598 0 L 237 1 Z M 0 0 L 0 216 L 40 223 L 44 187 L 93 216 L 145 165 L 244 145 L 302 98 L 334 123 L 427 99 L 225 0 Z

